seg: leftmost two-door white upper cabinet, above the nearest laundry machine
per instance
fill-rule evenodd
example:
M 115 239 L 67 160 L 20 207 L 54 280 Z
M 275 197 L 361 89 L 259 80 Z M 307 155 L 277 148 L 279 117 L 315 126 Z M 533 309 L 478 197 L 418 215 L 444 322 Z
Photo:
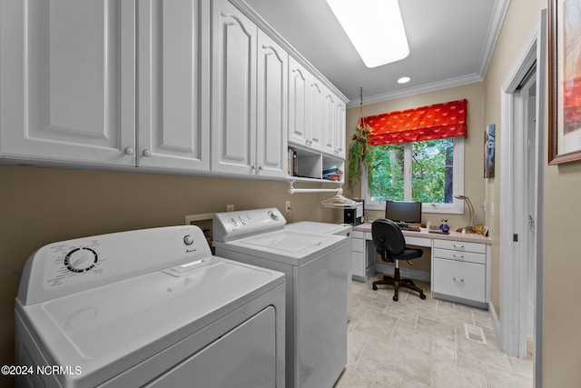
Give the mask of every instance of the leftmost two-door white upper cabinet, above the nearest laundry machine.
M 11 34 L 1 42 L 0 153 L 207 171 L 202 3 L 143 0 L 136 9 L 131 1 L 3 1 Z

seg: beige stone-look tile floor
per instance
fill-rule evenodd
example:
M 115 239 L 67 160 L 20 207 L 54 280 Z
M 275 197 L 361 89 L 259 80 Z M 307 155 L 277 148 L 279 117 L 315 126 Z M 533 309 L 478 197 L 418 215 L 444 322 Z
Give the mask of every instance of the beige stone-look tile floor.
M 379 276 L 379 274 L 378 274 Z M 349 359 L 335 388 L 532 387 L 533 363 L 502 353 L 488 312 L 353 281 Z M 464 323 L 481 327 L 486 344 L 468 340 Z M 478 329 L 479 331 L 479 329 Z

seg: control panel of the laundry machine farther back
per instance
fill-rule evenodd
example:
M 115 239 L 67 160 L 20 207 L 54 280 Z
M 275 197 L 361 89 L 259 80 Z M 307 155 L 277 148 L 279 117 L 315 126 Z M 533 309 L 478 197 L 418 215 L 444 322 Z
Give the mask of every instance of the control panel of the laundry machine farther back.
M 215 241 L 226 243 L 253 234 L 281 230 L 286 223 L 276 207 L 216 213 L 212 219 L 212 236 Z

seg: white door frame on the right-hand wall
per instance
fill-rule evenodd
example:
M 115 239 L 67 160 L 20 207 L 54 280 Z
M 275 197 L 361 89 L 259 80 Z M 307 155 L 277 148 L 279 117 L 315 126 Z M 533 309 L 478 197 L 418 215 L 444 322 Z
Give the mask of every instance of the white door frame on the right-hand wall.
M 523 139 L 523 126 L 518 125 L 518 86 L 527 75 L 533 65 L 537 65 L 537 257 L 535 266 L 537 272 L 536 284 L 537 293 L 535 301 L 535 375 L 536 386 L 540 386 L 541 373 L 541 353 L 542 353 L 542 253 L 543 253 L 543 184 L 544 184 L 544 161 L 546 133 L 546 106 L 547 106 L 547 10 L 541 10 L 537 25 L 533 28 L 517 60 L 511 67 L 501 88 L 501 136 L 500 136 L 500 160 L 502 174 L 500 179 L 500 214 L 507 216 L 500 218 L 499 228 L 499 266 L 500 266 L 500 335 L 499 344 L 503 352 L 517 355 L 519 340 L 519 319 L 521 303 L 520 289 L 522 275 L 526 268 L 526 261 L 523 255 L 526 247 L 521 243 L 513 242 L 513 234 L 523 235 L 522 223 L 517 224 L 516 217 L 513 217 L 513 209 L 517 204 L 517 184 L 522 190 L 522 179 L 517 171 L 522 170 L 524 154 L 515 153 L 515 150 L 522 150 L 516 147 L 518 139 Z M 520 168 L 520 170 L 519 170 Z M 520 182 L 520 183 L 519 183 Z M 523 210 L 517 210 L 518 217 L 526 217 Z

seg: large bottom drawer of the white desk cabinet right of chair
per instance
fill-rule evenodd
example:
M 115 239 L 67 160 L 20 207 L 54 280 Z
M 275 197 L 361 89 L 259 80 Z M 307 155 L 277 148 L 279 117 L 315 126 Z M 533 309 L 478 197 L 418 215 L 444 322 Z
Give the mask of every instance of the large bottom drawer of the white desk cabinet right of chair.
M 434 259 L 433 292 L 477 302 L 486 302 L 486 266 Z

